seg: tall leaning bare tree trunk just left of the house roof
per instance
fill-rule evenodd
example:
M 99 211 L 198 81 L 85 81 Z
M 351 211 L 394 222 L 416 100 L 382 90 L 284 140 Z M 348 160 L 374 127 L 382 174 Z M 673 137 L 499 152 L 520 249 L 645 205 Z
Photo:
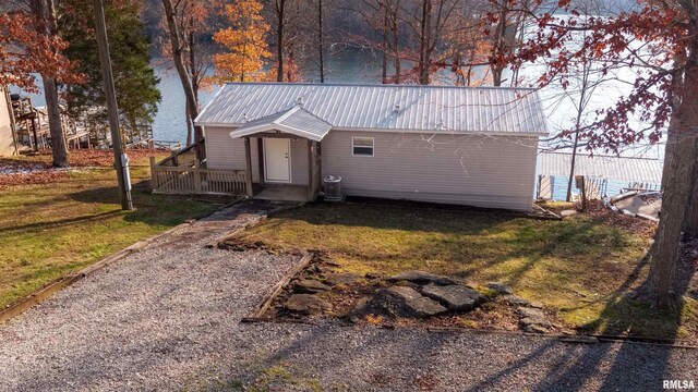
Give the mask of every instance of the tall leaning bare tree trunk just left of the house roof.
M 186 63 L 184 61 L 184 49 L 182 47 L 182 32 L 180 30 L 174 9 L 172 8 L 171 0 L 163 0 L 163 7 L 165 8 L 165 17 L 167 20 L 168 33 L 170 38 L 170 44 L 172 46 L 172 61 L 174 62 L 174 68 L 177 69 L 177 73 L 179 74 L 179 79 L 182 83 L 182 88 L 184 89 L 184 98 L 186 105 L 186 111 L 192 124 L 194 124 L 194 119 L 198 115 L 198 105 L 196 102 L 196 94 L 194 93 L 194 88 L 192 85 L 192 79 L 186 71 Z M 198 143 L 203 139 L 203 132 L 201 126 L 194 126 L 194 143 L 198 145 Z M 196 157 L 201 160 L 204 158 L 204 151 L 196 147 Z

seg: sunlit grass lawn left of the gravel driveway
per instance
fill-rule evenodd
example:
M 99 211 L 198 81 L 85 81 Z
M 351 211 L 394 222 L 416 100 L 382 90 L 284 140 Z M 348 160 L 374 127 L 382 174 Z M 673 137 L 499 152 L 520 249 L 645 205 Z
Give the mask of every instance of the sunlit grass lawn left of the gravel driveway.
M 132 167 L 133 212 L 121 211 L 111 168 L 80 169 L 48 184 L 1 188 L 0 308 L 215 208 L 184 197 L 151 195 L 146 162 L 140 159 Z

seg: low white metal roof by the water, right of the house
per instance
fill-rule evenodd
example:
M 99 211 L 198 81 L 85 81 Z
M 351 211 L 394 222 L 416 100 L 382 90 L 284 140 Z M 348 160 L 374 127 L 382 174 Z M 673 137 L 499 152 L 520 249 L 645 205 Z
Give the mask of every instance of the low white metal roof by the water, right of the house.
M 538 174 L 569 177 L 571 152 L 540 152 Z M 659 159 L 589 156 L 578 152 L 575 174 L 601 176 L 609 180 L 647 182 L 661 184 L 663 163 Z

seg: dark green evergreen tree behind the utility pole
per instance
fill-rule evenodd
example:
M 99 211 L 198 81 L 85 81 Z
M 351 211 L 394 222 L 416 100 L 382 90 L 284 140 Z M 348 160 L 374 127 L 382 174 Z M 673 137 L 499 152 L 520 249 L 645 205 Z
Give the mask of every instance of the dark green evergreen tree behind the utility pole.
M 119 114 L 122 125 L 136 130 L 151 124 L 160 101 L 159 78 L 151 68 L 148 38 L 135 2 L 107 0 L 105 19 L 109 34 L 109 51 L 115 76 Z M 77 17 L 76 17 L 77 16 Z M 64 54 L 77 63 L 76 71 L 86 75 L 83 85 L 67 85 L 68 112 L 73 118 L 107 122 L 101 85 L 101 69 L 95 33 L 92 0 L 63 0 L 59 11 L 61 37 L 70 42 Z

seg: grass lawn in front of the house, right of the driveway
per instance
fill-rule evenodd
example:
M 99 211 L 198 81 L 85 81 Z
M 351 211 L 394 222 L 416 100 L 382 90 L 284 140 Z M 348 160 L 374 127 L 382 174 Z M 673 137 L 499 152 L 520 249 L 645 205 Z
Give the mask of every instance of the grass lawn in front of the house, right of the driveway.
M 625 295 L 648 272 L 640 259 L 651 228 L 631 228 L 590 215 L 545 221 L 498 212 L 315 204 L 269 217 L 241 241 L 322 249 L 351 272 L 418 269 L 480 286 L 504 282 L 555 310 L 570 329 L 695 338 L 695 301 L 687 299 L 683 314 L 670 315 Z

